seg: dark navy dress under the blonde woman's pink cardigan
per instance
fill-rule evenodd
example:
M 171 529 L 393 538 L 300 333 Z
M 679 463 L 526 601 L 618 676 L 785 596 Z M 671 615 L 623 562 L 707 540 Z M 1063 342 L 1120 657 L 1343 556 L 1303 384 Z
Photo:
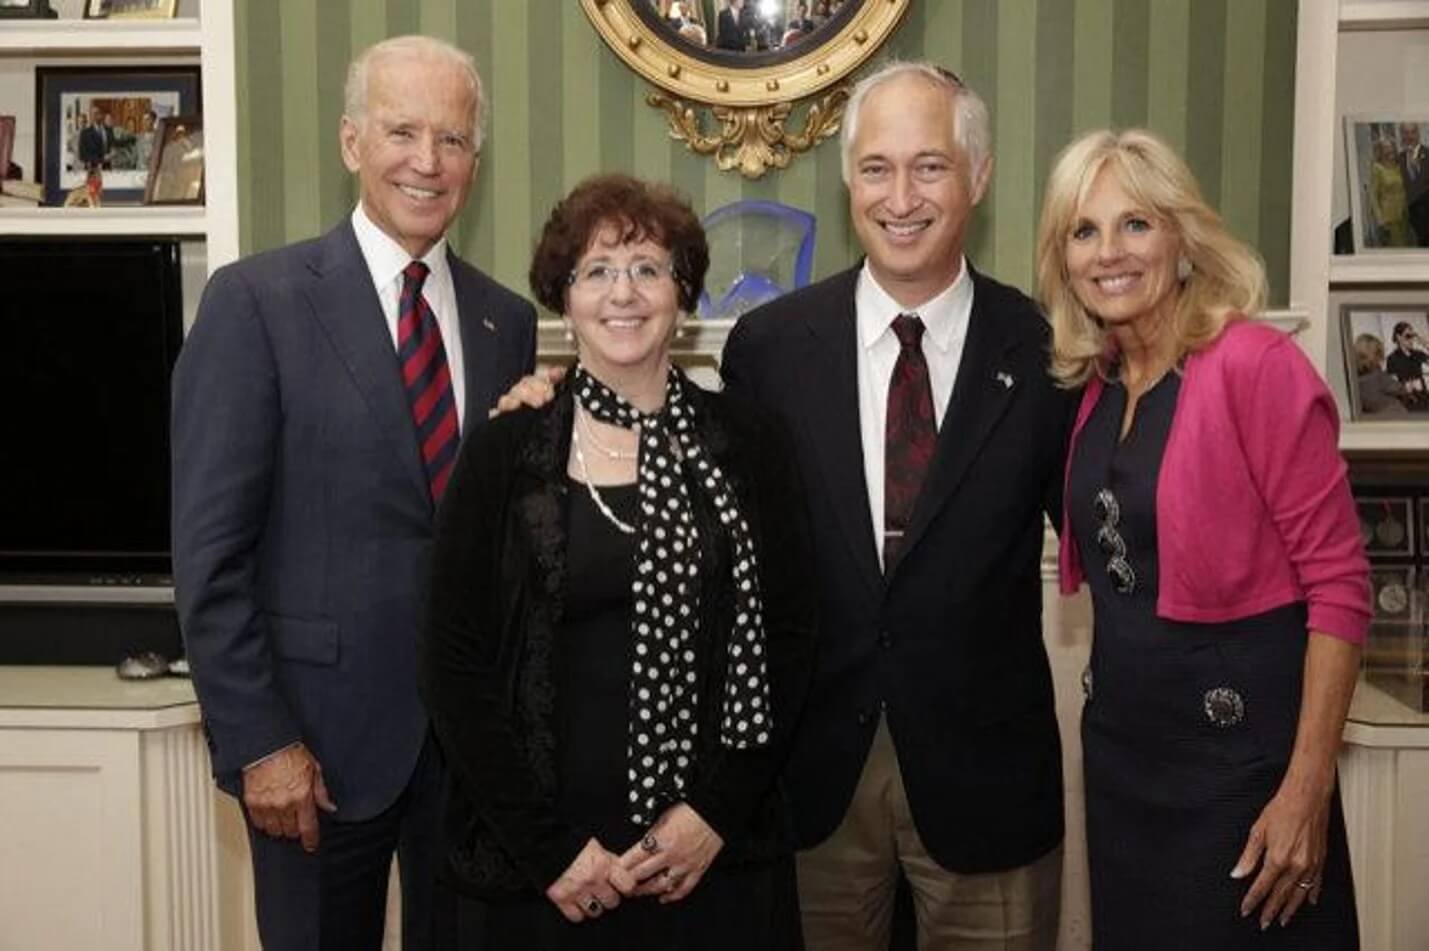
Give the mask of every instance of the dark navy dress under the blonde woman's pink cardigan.
M 1258 914 L 1240 917 L 1252 880 L 1230 870 L 1289 764 L 1306 614 L 1288 604 L 1219 624 L 1156 617 L 1156 480 L 1179 390 L 1167 373 L 1120 438 L 1126 390 L 1110 383 L 1076 441 L 1067 484 L 1095 607 L 1082 711 L 1093 947 L 1358 948 L 1338 790 L 1319 905 L 1305 902 L 1286 928 L 1266 932 Z M 1115 515 L 1096 503 L 1103 490 Z M 1112 565 L 1123 550 L 1129 573 Z

